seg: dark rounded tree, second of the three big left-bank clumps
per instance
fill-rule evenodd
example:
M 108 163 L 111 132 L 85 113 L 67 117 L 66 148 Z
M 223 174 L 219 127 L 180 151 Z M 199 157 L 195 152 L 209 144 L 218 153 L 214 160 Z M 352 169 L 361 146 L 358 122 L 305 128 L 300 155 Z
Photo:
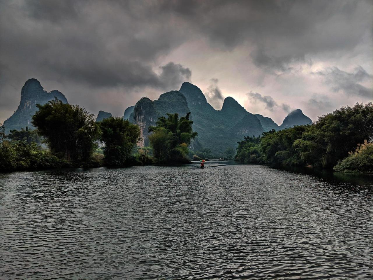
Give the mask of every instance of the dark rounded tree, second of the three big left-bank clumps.
M 108 165 L 125 166 L 132 160 L 131 152 L 140 137 L 138 125 L 120 117 L 110 117 L 98 122 L 100 141 L 104 143 L 104 161 Z

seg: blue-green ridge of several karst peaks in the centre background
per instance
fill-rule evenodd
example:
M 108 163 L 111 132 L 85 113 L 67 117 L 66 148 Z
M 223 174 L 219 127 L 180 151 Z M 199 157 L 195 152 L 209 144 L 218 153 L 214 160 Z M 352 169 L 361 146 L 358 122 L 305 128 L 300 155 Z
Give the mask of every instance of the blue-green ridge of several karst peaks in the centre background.
M 186 103 L 180 94 L 185 96 Z M 126 111 L 130 109 L 132 108 L 127 108 Z M 191 148 L 207 147 L 215 155 L 223 155 L 225 149 L 236 147 L 244 136 L 259 136 L 264 131 L 311 122 L 298 109 L 291 112 L 280 127 L 271 118 L 247 112 L 232 97 L 226 97 L 222 109 L 215 110 L 200 88 L 188 82 L 183 83 L 179 91 L 164 93 L 157 100 L 151 101 L 146 97 L 140 99 L 134 106 L 129 121 L 140 126 L 142 140 L 139 144 L 147 146 L 148 127 L 155 125 L 160 116 L 166 113 L 178 113 L 182 116 L 187 112 L 191 112 L 193 129 L 198 133 Z

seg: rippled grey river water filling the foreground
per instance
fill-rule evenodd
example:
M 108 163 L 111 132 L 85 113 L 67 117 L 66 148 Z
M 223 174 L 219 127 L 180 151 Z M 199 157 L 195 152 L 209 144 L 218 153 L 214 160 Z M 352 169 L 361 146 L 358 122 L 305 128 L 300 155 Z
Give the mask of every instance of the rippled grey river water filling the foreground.
M 196 167 L 0 175 L 0 279 L 373 277 L 371 178 Z

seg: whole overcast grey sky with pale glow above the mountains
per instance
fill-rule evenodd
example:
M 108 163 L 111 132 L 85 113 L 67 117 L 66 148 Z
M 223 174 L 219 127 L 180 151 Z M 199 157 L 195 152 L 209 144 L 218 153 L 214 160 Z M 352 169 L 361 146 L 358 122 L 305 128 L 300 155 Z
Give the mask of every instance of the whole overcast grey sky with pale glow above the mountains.
M 0 0 L 0 122 L 29 78 L 97 114 L 201 88 L 279 124 L 373 99 L 373 4 L 362 1 Z

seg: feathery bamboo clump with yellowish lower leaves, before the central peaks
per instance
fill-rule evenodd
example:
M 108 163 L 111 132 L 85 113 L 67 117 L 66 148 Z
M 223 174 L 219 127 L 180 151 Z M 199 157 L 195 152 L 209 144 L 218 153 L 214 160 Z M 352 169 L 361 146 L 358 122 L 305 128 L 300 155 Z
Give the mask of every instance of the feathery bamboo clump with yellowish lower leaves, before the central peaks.
M 189 162 L 188 146 L 197 136 L 192 130 L 193 121 L 189 120 L 190 113 L 179 119 L 179 115 L 167 113 L 157 121 L 157 126 L 149 127 L 150 146 L 154 159 L 159 163 Z

